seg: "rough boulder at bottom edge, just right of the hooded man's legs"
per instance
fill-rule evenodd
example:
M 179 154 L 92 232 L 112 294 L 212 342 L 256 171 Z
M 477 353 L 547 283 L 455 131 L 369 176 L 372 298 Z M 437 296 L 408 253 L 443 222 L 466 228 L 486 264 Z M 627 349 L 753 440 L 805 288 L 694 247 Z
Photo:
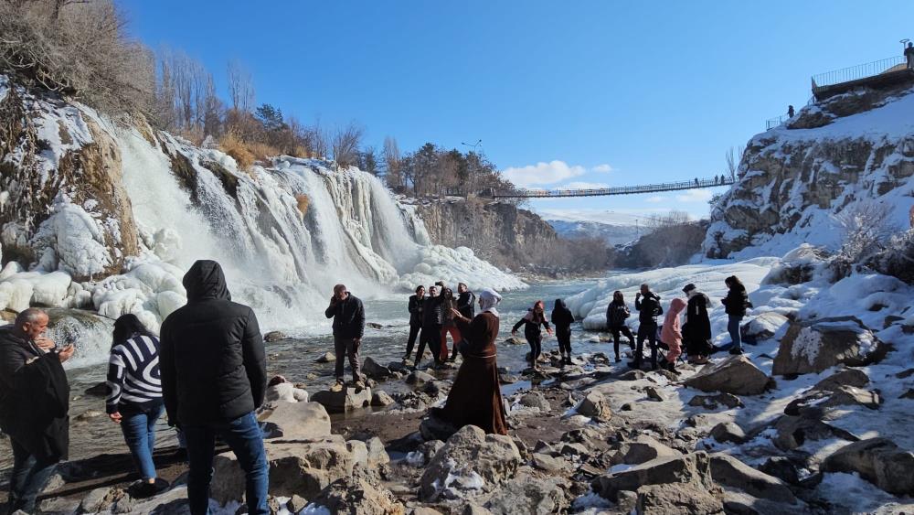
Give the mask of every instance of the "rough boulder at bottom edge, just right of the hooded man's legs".
M 338 479 L 324 488 L 305 508 L 307 513 L 350 513 L 352 515 L 405 515 L 404 507 L 377 480 L 366 475 Z M 320 510 L 324 508 L 326 511 Z

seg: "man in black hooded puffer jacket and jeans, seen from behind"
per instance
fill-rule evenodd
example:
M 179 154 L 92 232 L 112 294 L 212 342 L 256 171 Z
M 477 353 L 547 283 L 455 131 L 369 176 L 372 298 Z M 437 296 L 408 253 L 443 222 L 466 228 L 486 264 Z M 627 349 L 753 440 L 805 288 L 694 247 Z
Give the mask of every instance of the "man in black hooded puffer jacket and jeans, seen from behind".
M 159 365 L 168 422 L 186 437 L 190 512 L 208 511 L 218 435 L 245 472 L 248 513 L 266 515 L 269 467 L 254 410 L 263 403 L 267 372 L 257 317 L 231 302 L 219 263 L 194 263 L 184 287 L 186 306 L 162 323 Z

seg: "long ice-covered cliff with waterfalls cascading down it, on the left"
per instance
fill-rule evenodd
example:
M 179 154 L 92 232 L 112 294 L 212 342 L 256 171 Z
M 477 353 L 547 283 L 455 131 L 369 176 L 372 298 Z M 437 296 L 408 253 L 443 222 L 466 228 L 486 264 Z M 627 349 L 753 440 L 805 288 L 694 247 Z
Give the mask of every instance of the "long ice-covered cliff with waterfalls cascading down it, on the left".
M 417 284 L 525 284 L 467 248 L 432 245 L 376 177 L 319 160 L 235 160 L 80 104 L 10 87 L 3 140 L 0 309 L 134 313 L 149 327 L 185 302 L 184 271 L 223 264 L 264 327 L 323 319 L 334 284 L 371 297 Z

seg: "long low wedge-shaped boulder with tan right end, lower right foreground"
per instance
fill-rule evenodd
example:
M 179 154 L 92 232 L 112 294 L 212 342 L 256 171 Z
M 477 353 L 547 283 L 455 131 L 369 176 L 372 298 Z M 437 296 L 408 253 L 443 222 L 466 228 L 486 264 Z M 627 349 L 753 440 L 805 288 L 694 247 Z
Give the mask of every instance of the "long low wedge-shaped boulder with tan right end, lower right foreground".
M 711 461 L 705 452 L 658 457 L 622 472 L 597 477 L 590 486 L 605 499 L 616 501 L 622 490 L 637 491 L 644 485 L 689 484 L 704 491 L 714 489 Z

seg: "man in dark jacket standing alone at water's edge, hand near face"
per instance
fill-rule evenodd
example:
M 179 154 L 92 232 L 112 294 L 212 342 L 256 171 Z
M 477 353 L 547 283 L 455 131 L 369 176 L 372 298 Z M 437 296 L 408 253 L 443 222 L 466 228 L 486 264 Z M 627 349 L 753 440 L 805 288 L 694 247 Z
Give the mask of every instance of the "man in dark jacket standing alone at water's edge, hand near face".
M 362 301 L 346 290 L 345 285 L 334 286 L 334 296 L 330 297 L 330 306 L 324 312 L 327 318 L 334 319 L 334 351 L 336 353 L 336 384 L 334 390 L 343 390 L 344 356 L 349 358 L 352 367 L 353 386 L 364 389 L 362 374 L 359 373 L 358 347 L 362 345 L 365 334 L 365 307 Z

